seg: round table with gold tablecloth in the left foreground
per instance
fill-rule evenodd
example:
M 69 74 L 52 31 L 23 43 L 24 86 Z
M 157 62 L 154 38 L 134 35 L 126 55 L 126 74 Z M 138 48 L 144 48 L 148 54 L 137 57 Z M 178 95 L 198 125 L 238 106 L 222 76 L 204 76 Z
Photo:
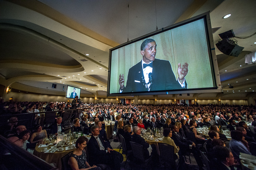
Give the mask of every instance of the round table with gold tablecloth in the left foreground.
M 36 146 L 33 155 L 37 156 L 38 158 L 41 158 L 47 163 L 56 163 L 56 167 L 59 168 L 59 170 L 62 170 L 61 158 L 67 155 L 69 152 L 74 151 L 74 149 L 70 149 L 66 151 L 66 147 L 63 147 L 63 148 L 64 148 L 64 151 L 61 151 L 61 152 L 55 151 L 54 153 L 44 153 L 44 152 L 41 152 L 43 148 L 38 148 L 38 146 Z M 47 147 L 47 149 L 50 149 L 50 147 Z

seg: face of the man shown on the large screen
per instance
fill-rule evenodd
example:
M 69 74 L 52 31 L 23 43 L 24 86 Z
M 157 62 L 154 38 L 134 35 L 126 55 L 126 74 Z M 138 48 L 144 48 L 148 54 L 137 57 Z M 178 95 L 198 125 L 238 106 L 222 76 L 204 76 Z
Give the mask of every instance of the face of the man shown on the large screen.
M 141 51 L 141 54 L 143 56 L 143 61 L 145 63 L 154 61 L 156 57 L 156 42 L 154 41 L 154 42 L 148 43 L 145 50 Z

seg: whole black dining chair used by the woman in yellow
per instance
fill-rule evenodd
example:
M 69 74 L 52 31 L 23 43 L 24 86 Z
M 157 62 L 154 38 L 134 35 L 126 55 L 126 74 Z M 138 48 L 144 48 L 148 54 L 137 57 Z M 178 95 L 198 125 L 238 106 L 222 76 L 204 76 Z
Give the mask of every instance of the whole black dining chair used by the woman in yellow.
M 172 169 L 178 170 L 179 159 L 174 153 L 174 147 L 166 143 L 158 143 L 161 165 L 167 165 L 167 167 L 172 167 Z

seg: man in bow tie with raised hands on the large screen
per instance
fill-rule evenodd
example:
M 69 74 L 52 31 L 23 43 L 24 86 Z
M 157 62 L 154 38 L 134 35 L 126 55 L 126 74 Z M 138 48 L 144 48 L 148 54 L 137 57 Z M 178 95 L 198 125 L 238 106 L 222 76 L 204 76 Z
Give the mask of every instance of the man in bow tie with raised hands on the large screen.
M 167 60 L 156 59 L 156 41 L 146 39 L 140 46 L 142 60 L 129 69 L 126 87 L 124 75 L 119 75 L 119 93 L 187 88 L 185 76 L 188 64 L 178 64 L 178 80 Z

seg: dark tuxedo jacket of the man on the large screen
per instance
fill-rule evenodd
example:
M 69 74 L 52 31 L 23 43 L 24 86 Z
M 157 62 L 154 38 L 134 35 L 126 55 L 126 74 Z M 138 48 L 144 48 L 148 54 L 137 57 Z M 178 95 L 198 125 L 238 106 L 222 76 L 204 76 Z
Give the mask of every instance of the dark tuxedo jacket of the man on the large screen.
M 123 89 L 123 93 L 147 91 L 142 84 L 142 77 L 144 77 L 144 75 L 142 61 L 140 61 L 129 69 L 126 87 Z M 187 88 L 186 82 L 185 88 Z M 167 60 L 155 59 L 152 66 L 152 85 L 150 86 L 150 91 L 171 89 L 181 89 L 181 86 L 173 74 L 170 62 Z

